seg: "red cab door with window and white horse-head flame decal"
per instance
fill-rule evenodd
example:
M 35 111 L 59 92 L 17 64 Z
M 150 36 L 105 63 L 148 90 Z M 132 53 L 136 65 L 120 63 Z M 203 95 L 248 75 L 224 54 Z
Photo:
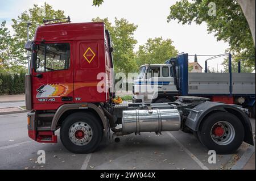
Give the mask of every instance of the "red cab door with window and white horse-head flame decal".
M 56 110 L 73 102 L 73 55 L 67 41 L 38 45 L 32 69 L 32 103 L 35 110 Z

